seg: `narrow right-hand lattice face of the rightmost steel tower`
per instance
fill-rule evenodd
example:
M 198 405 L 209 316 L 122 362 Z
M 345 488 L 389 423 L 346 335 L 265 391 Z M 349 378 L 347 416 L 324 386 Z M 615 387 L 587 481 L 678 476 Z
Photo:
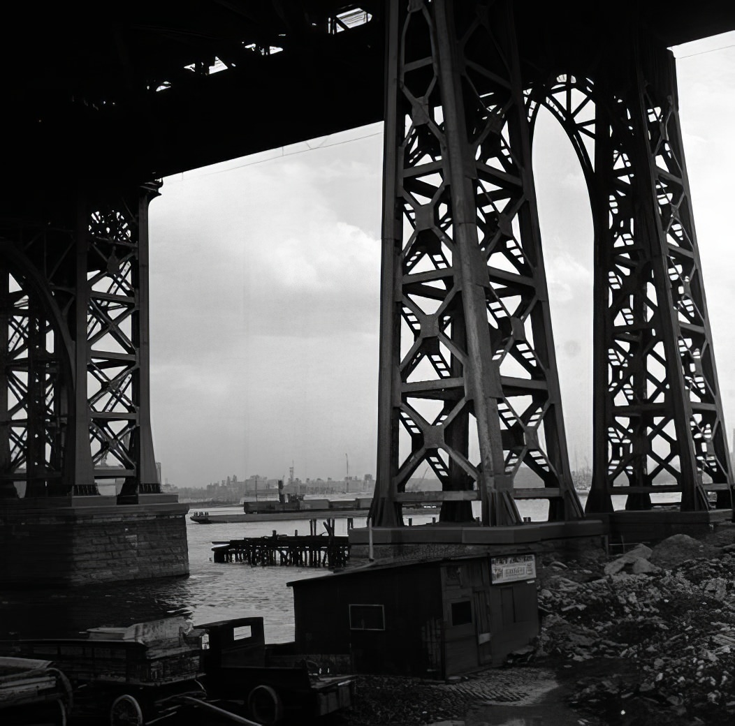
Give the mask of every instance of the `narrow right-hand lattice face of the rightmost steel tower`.
M 675 61 L 671 51 L 648 37 L 638 40 L 635 120 L 645 153 L 648 230 L 678 443 L 681 510 L 729 509 L 731 462 L 681 142 Z M 708 492 L 714 493 L 713 503 Z

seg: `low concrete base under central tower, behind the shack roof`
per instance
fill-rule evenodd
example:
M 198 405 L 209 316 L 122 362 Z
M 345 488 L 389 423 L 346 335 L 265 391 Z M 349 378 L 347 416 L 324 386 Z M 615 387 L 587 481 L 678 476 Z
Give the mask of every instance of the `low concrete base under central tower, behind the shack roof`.
M 476 553 L 559 553 L 577 556 L 605 544 L 600 520 L 529 522 L 512 527 L 483 527 L 473 523 L 436 523 L 415 527 L 352 529 L 350 556 L 366 559 L 417 559 Z

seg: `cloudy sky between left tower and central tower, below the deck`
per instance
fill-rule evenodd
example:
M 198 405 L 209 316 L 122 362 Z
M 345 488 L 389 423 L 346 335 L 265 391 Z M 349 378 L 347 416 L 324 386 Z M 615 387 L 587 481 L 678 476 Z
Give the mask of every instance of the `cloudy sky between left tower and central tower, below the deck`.
M 375 140 L 356 160 L 343 146 L 165 180 L 151 205 L 151 378 L 174 484 L 276 476 L 292 458 L 297 476 L 340 476 L 345 451 L 374 472 Z

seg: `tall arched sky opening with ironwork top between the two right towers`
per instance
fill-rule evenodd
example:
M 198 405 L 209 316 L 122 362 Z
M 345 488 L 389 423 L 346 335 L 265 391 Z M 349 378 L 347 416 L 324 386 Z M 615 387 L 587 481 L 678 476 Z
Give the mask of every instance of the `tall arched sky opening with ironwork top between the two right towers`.
M 589 79 L 567 75 L 552 76 L 526 92 L 564 428 L 571 477 L 578 490 L 580 484 L 589 487 L 593 441 L 592 280 L 600 220 L 593 208 L 593 93 Z M 518 506 L 523 509 L 526 503 L 520 501 Z M 533 509 L 536 515 L 535 503 Z

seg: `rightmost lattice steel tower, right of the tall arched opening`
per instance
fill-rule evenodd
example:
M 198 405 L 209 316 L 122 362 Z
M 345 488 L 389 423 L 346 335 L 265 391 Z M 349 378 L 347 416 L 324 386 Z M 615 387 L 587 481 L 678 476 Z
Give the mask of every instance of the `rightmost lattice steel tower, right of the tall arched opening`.
M 593 195 L 595 453 L 588 512 L 728 509 L 732 476 L 686 176 L 673 55 L 652 43 L 603 86 Z M 660 500 L 660 498 L 659 498 Z

